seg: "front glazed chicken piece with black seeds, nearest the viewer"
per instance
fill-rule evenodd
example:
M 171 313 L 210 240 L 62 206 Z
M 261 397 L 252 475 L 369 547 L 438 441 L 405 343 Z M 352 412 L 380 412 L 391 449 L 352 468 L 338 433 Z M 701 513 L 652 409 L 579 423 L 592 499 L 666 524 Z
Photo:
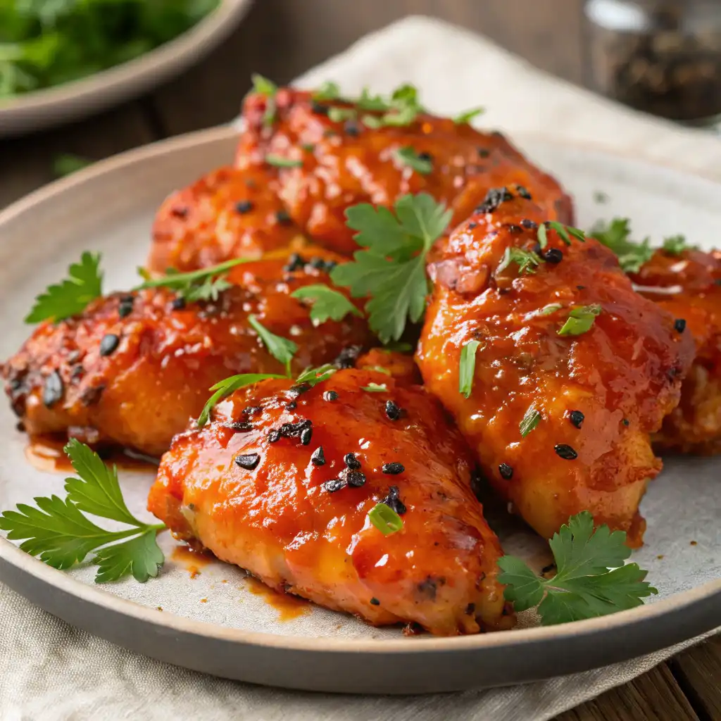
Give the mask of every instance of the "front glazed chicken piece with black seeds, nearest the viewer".
M 364 391 L 371 382 L 388 392 Z M 389 400 L 401 409 L 396 420 Z M 318 448 L 322 465 L 311 458 Z M 384 472 L 391 463 L 402 472 Z M 467 446 L 433 397 L 351 369 L 305 392 L 262 381 L 221 402 L 205 428 L 174 438 L 148 508 L 176 536 L 279 591 L 375 625 L 475 633 L 510 627 L 512 618 L 497 582 L 500 544 L 471 472 Z M 360 474 L 363 485 L 324 486 Z M 402 530 L 384 536 L 368 511 L 391 487 L 406 510 Z

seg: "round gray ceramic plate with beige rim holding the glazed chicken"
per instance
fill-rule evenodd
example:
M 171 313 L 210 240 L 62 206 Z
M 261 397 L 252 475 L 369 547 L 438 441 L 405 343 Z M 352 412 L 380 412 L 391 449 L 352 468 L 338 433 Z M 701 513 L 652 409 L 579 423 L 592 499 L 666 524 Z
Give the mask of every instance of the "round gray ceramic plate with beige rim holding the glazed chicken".
M 721 185 L 589 149 L 523 143 L 574 190 L 582 226 L 630 216 L 640 235 L 684 231 L 709 244 L 721 226 Z M 21 319 L 35 293 L 65 273 L 84 249 L 102 251 L 107 288 L 128 287 L 149 244 L 156 206 L 175 187 L 229 162 L 234 137 L 203 131 L 99 163 L 0 213 L 0 356 L 28 334 Z M 603 205 L 593 196 L 609 196 Z M 0 404 L 0 508 L 62 492 L 63 477 L 25 459 L 25 438 Z M 721 622 L 721 459 L 668 461 L 642 510 L 646 545 L 634 554 L 660 594 L 653 603 L 603 619 L 521 627 L 459 638 L 405 638 L 356 619 L 302 606 L 278 609 L 242 571 L 200 565 L 173 553 L 159 578 L 99 587 L 92 569 L 59 572 L 0 539 L 0 578 L 53 614 L 120 645 L 188 668 L 294 689 L 364 693 L 452 691 L 515 684 L 583 671 L 657 650 Z M 145 513 L 151 474 L 123 472 L 129 505 Z M 539 566 L 547 544 L 503 513 L 490 521 L 507 552 Z M 692 544 L 691 541 L 694 541 Z M 191 565 L 198 565 L 199 573 Z M 162 609 L 162 610 L 159 610 Z

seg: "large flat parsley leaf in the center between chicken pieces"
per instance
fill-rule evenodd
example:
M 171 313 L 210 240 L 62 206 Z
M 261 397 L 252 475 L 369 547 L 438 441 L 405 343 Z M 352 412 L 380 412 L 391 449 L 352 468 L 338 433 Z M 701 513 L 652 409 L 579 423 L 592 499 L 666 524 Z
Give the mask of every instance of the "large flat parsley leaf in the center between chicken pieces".
M 370 203 L 348 208 L 346 225 L 358 231 L 355 242 L 366 249 L 330 273 L 333 283 L 349 287 L 354 298 L 370 296 L 368 323 L 382 342 L 399 340 L 407 321 L 415 323 L 423 316 L 428 294 L 425 256 L 453 214 L 428 193 L 404 195 L 394 211 Z

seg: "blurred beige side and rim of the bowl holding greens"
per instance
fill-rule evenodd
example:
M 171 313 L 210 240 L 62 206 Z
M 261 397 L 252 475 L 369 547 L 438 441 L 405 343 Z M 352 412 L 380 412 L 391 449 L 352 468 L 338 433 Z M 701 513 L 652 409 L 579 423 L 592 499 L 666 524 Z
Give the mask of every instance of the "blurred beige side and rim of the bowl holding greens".
M 139 58 L 87 78 L 0 100 L 0 138 L 83 118 L 179 75 L 230 35 L 251 2 L 221 0 L 198 25 Z

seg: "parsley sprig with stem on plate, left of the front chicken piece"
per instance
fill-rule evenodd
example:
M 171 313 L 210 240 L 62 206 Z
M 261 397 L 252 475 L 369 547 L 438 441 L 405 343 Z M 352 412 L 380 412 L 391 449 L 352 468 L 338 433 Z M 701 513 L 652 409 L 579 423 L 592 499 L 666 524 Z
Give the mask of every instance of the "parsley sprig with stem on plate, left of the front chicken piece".
M 80 563 L 94 551 L 96 583 L 127 575 L 145 583 L 158 575 L 164 557 L 156 534 L 164 524 L 143 523 L 133 516 L 123 500 L 115 466 L 108 468 L 84 443 L 73 438 L 64 451 L 78 474 L 66 479 L 65 499 L 36 497 L 37 508 L 19 503 L 17 510 L 0 513 L 0 529 L 8 532 L 8 539 L 22 540 L 20 549 L 59 569 Z M 129 528 L 107 531 L 86 513 Z

